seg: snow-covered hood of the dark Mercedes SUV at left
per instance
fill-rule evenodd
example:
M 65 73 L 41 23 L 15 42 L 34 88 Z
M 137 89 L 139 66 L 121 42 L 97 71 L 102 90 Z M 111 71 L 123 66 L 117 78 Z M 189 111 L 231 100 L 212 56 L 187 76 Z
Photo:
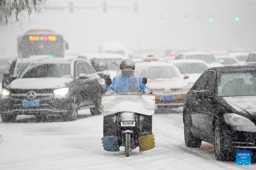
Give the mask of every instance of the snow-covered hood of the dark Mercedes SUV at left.
M 13 80 L 7 88 L 11 89 L 57 89 L 66 87 L 73 78 L 24 78 Z

